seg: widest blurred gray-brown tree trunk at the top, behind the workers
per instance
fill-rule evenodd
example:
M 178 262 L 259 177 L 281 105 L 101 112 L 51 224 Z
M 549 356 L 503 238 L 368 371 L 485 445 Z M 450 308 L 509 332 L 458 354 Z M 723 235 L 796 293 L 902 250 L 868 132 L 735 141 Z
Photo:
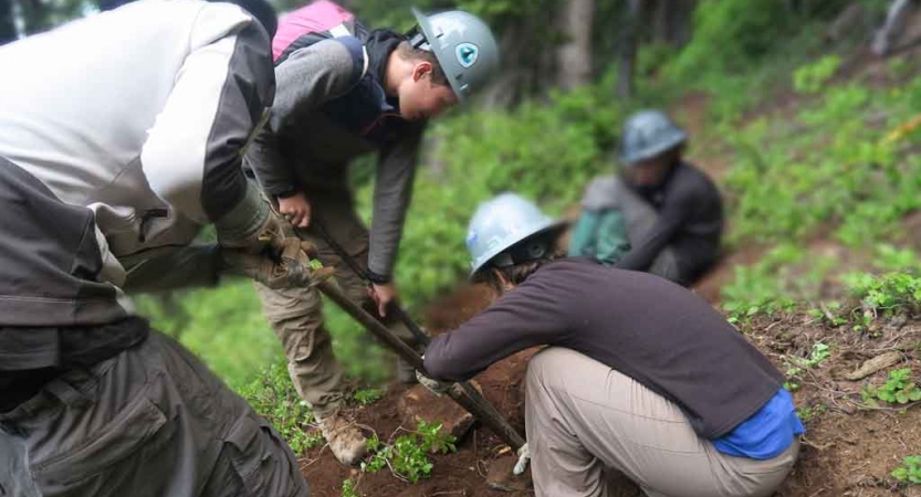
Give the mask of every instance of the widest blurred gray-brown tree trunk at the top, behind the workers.
M 566 42 L 557 52 L 557 84 L 564 89 L 592 83 L 592 24 L 595 0 L 566 0 L 563 35 Z

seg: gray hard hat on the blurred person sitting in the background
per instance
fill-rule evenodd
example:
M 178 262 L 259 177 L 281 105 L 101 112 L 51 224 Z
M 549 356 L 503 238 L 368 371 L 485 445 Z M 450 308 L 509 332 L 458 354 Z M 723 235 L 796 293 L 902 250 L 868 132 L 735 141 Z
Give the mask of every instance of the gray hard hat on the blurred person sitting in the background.
M 620 160 L 630 166 L 670 150 L 688 140 L 688 134 L 660 110 L 642 110 L 624 125 Z

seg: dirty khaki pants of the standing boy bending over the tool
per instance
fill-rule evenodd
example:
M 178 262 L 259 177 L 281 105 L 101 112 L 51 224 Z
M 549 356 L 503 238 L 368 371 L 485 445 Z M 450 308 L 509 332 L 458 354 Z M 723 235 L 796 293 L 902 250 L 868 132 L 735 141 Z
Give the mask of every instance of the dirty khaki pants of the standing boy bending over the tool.
M 355 212 L 350 193 L 324 190 L 306 194 L 312 219 L 320 220 L 329 236 L 359 265 L 367 267 L 368 230 Z M 345 294 L 376 316 L 367 284 L 339 260 L 316 223 L 301 230 L 301 237 L 316 245 L 318 258 L 325 266 L 336 268 L 336 282 Z M 262 310 L 282 342 L 287 371 L 297 393 L 318 416 L 338 409 L 343 398 L 343 371 L 333 355 L 329 332 L 323 326 L 320 292 L 314 288 L 273 290 L 258 283 L 255 289 L 262 300 Z M 411 341 L 405 326 L 388 324 L 388 327 L 400 338 Z

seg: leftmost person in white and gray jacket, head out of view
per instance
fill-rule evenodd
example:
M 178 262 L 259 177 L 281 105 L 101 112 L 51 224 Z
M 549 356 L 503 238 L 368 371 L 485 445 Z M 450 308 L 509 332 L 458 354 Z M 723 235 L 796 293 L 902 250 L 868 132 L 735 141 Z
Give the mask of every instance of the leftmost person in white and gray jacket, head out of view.
M 278 433 L 124 293 L 294 283 L 266 251 L 300 241 L 241 168 L 274 93 L 262 27 L 145 0 L 0 66 L 0 495 L 307 496 Z M 191 244 L 211 223 L 221 246 Z

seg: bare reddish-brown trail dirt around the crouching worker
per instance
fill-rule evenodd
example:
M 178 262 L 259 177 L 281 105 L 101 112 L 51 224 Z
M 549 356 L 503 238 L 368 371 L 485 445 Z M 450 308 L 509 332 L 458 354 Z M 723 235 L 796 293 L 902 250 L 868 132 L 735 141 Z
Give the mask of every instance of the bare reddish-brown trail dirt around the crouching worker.
M 435 306 L 427 316 L 427 325 L 435 334 L 453 328 L 489 300 L 489 293 L 482 288 L 464 289 Z M 798 384 L 794 396 L 804 412 L 807 433 L 799 461 L 777 496 L 921 497 L 921 486 L 906 487 L 890 476 L 906 456 L 921 454 L 921 402 L 892 405 L 879 401 L 877 406 L 871 406 L 860 394 L 865 385 L 886 383 L 889 372 L 896 369 L 911 368 L 913 379 L 921 378 L 921 317 L 888 321 L 880 318 L 864 334 L 851 331 L 849 325 L 831 328 L 818 318 L 802 314 L 758 318 L 740 326 L 782 371 L 795 366 L 794 358 L 813 358 L 816 343 L 828 346 L 830 353 L 814 366 L 800 368 L 792 379 Z M 522 382 L 533 353 L 533 350 L 521 352 L 475 379 L 486 399 L 521 433 L 524 433 Z M 406 388 L 393 385 L 375 404 L 354 408 L 354 415 L 366 429 L 376 431 L 381 441 L 405 434 L 404 430 L 416 427 L 415 420 L 404 420 L 400 414 L 400 399 L 405 393 Z M 432 412 L 438 409 L 433 402 Z M 415 485 L 400 480 L 387 467 L 374 474 L 345 468 L 327 448 L 306 454 L 302 469 L 316 497 L 338 497 L 347 478 L 357 483 L 356 495 L 363 496 L 533 495 L 533 490 L 490 488 L 490 469 L 495 473 L 500 466 L 510 467 L 513 456 L 499 437 L 480 426 L 474 426 L 458 442 L 457 453 L 430 458 L 431 477 Z M 622 476 L 610 477 L 617 482 L 615 497 L 641 495 Z

